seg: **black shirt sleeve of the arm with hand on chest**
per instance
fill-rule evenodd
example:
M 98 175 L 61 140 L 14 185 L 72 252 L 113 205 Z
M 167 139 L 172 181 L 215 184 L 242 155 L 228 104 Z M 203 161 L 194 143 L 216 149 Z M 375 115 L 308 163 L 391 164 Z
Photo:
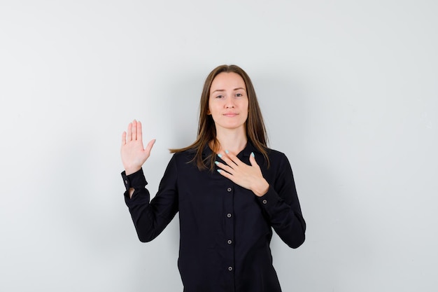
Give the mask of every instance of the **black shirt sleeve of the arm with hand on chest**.
M 305 239 L 306 222 L 302 216 L 292 168 L 288 158 L 282 153 L 276 167 L 274 183 L 269 182 L 269 190 L 262 197 L 257 197 L 260 206 L 267 214 L 272 228 L 278 236 L 296 249 Z

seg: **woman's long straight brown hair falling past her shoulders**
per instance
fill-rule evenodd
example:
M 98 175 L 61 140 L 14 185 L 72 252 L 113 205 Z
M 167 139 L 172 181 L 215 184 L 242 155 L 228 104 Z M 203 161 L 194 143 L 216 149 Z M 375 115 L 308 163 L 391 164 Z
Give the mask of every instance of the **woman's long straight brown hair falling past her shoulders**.
M 260 106 L 257 102 L 257 96 L 255 95 L 253 83 L 251 82 L 248 74 L 246 74 L 243 69 L 236 65 L 221 65 L 210 72 L 204 83 L 201 102 L 199 104 L 199 125 L 197 139 L 190 146 L 180 149 L 170 149 L 170 152 L 178 153 L 187 150 L 194 150 L 196 153 L 195 158 L 193 158 L 192 161 L 196 162 L 198 169 L 202 170 L 210 168 L 212 171 L 214 170 L 214 161 L 216 160 L 216 155 L 209 155 L 206 158 L 202 158 L 202 151 L 204 151 L 204 148 L 209 145 L 210 141 L 213 141 L 213 153 L 219 151 L 219 141 L 216 138 L 216 126 L 213 118 L 211 115 L 209 115 L 209 99 L 211 83 L 213 83 L 213 79 L 222 72 L 233 72 L 239 74 L 245 82 L 246 94 L 248 95 L 246 137 L 255 146 L 257 151 L 260 151 L 260 153 L 263 154 L 264 160 L 269 167 L 269 158 L 267 155 L 267 132 L 266 127 L 264 127 L 262 112 L 260 111 Z

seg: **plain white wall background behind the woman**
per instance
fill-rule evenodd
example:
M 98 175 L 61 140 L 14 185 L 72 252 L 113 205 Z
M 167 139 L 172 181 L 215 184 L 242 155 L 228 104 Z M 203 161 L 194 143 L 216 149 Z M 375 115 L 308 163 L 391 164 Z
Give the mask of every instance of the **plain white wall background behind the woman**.
M 1 291 L 182 291 L 178 216 L 138 241 L 120 139 L 152 193 L 206 75 L 253 79 L 308 229 L 283 291 L 437 291 L 438 2 L 1 1 Z M 146 141 L 147 142 L 147 141 Z

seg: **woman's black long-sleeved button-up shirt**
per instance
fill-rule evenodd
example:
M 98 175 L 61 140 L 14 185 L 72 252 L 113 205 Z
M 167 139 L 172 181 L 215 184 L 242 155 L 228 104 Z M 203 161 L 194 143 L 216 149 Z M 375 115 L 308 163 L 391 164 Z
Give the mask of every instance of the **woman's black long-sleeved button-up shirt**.
M 141 242 L 160 235 L 179 211 L 178 268 L 185 292 L 281 291 L 269 248 L 272 228 L 297 248 L 304 242 L 306 223 L 288 158 L 269 150 L 268 169 L 249 142 L 237 157 L 250 165 L 251 152 L 269 183 L 262 197 L 218 172 L 199 171 L 188 163 L 192 151 L 174 154 L 151 201 L 143 171 L 122 172 L 126 189 L 135 189 L 132 199 L 125 192 L 125 202 Z M 206 147 L 203 155 L 211 153 Z

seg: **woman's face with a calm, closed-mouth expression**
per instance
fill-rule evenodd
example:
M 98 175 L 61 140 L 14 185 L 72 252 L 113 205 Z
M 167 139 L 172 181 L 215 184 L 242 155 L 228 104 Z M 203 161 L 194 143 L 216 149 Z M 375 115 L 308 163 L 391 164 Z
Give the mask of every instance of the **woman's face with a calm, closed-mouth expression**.
M 211 83 L 209 111 L 216 131 L 222 129 L 245 130 L 248 118 L 248 95 L 243 78 L 234 72 L 222 72 Z

